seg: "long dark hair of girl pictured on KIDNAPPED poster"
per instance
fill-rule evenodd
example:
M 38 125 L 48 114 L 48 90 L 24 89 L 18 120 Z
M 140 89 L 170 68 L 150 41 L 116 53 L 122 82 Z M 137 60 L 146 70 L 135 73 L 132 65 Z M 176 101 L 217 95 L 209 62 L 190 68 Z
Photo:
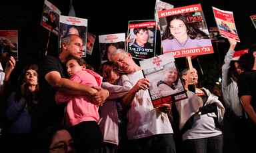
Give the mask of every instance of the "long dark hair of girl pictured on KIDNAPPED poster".
M 163 40 L 165 39 L 173 39 L 173 35 L 171 35 L 170 31 L 170 23 L 174 19 L 179 19 L 183 21 L 185 26 L 187 27 L 187 35 L 189 35 L 190 39 L 210 39 L 206 33 L 195 27 L 192 23 L 187 22 L 187 18 L 184 17 L 183 15 L 173 15 L 169 20 L 167 21 L 167 27 L 165 29 L 165 33 L 163 33 Z

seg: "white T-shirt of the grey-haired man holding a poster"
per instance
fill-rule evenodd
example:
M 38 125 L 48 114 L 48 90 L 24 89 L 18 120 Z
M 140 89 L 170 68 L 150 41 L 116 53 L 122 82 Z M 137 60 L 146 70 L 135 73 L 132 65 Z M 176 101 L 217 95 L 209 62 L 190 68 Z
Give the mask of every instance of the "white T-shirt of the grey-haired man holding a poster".
M 143 77 L 142 71 L 127 75 L 133 86 Z M 127 139 L 133 140 L 155 134 L 173 134 L 173 128 L 166 113 L 153 108 L 148 90 L 139 90 L 135 102 L 127 110 Z

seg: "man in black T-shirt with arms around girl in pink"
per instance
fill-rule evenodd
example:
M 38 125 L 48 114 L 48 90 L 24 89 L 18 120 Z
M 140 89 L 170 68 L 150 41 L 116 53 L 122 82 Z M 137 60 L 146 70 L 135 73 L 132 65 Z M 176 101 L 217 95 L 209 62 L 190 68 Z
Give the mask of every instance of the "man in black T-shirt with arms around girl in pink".
M 70 57 L 81 58 L 83 42 L 77 35 L 67 35 L 61 39 L 59 57 L 47 55 L 39 69 L 39 122 L 38 130 L 43 130 L 53 124 L 61 124 L 65 105 L 57 105 L 55 93 L 85 94 L 95 104 L 102 103 L 108 96 L 108 91 L 101 87 L 91 87 L 69 80 L 65 63 Z

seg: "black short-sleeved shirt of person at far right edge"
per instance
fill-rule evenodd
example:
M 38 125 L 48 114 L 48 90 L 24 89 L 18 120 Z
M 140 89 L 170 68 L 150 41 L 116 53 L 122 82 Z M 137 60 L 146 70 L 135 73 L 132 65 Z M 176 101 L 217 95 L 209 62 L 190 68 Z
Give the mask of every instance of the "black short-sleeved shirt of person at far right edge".
M 256 110 L 256 70 L 244 71 L 237 82 L 238 96 L 251 95 L 251 106 Z

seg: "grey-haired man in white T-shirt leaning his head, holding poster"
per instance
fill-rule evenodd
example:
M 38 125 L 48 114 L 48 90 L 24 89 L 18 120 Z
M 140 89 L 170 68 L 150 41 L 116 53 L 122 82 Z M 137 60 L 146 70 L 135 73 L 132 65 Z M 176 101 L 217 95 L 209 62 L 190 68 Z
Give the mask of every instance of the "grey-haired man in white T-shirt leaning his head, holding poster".
M 149 80 L 143 77 L 141 67 L 133 61 L 131 54 L 117 49 L 111 59 L 133 82 L 133 88 L 121 101 L 123 108 L 127 108 L 129 152 L 176 152 L 173 129 L 167 116 L 170 104 L 153 108 L 147 90 Z

